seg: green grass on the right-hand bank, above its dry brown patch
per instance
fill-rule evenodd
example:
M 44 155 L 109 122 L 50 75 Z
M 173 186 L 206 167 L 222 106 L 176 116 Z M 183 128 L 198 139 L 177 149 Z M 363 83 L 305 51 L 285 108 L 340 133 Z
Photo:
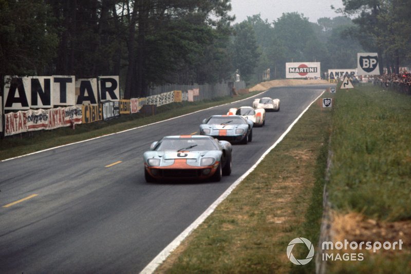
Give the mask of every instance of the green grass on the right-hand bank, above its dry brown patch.
M 411 97 L 369 85 L 339 92 L 335 99 L 333 207 L 378 220 L 409 220 Z

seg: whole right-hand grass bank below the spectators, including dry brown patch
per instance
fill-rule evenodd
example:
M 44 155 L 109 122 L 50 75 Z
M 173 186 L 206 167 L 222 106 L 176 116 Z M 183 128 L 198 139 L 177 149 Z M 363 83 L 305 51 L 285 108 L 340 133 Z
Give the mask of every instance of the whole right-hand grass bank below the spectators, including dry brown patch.
M 328 185 L 332 240 L 403 245 L 375 253 L 349 248 L 344 252 L 364 259 L 328 262 L 327 272 L 411 272 L 410 120 L 410 96 L 372 85 L 336 95 Z

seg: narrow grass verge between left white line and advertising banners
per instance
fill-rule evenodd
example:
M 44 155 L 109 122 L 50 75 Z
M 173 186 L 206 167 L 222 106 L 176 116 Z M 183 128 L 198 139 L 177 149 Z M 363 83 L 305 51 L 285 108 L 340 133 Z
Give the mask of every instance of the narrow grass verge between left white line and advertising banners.
M 245 99 L 256 94 L 258 94 L 258 92 L 240 95 L 234 98 L 221 97 L 201 102 L 172 103 L 158 107 L 157 114 L 153 116 L 143 117 L 142 114 L 122 115 L 120 118 L 108 121 L 79 124 L 76 125 L 75 130 L 69 127 L 62 127 L 52 131 L 37 131 L 8 136 L 0 140 L 0 160 L 132 129 L 133 127 L 199 111 L 200 109 Z

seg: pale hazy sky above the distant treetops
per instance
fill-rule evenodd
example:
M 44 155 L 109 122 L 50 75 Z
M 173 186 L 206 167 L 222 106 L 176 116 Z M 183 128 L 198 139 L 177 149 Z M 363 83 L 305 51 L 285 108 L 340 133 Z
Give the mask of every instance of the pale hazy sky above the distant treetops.
M 317 22 L 321 17 L 341 16 L 330 8 L 342 8 L 342 0 L 231 0 L 231 15 L 235 14 L 234 23 L 240 23 L 247 16 L 261 14 L 269 23 L 277 20 L 283 13 L 298 12 L 308 17 L 310 22 Z

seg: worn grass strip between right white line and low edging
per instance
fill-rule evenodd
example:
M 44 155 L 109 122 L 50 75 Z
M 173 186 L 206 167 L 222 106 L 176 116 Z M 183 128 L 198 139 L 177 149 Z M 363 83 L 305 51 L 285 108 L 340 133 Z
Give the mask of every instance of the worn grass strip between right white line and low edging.
M 294 267 L 286 250 L 294 238 L 318 239 L 330 121 L 313 104 L 156 272 L 312 272 L 314 260 Z

